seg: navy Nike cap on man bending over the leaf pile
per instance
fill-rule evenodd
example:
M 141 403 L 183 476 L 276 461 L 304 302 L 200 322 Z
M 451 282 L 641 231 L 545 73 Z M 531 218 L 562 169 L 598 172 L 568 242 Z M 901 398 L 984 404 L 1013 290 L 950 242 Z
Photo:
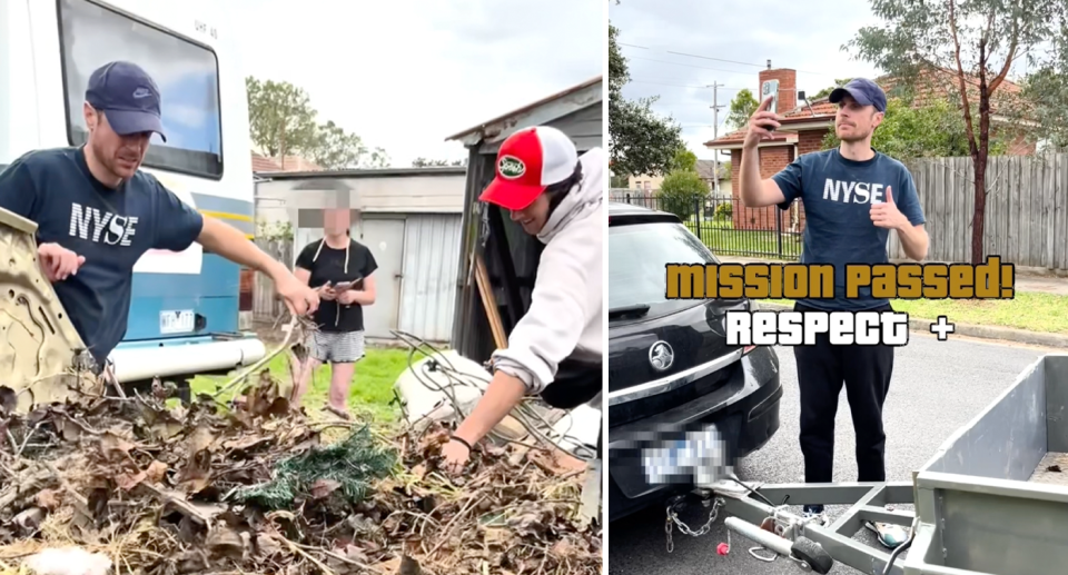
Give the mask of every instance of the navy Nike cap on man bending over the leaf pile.
M 140 66 L 116 61 L 97 68 L 86 88 L 89 106 L 103 111 L 119 136 L 154 131 L 164 141 L 159 87 Z

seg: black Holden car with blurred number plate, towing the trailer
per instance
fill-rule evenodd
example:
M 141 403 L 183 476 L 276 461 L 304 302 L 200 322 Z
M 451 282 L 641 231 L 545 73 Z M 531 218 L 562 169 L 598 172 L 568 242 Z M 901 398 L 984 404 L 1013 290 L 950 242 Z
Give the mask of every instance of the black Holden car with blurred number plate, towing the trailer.
M 725 315 L 749 299 L 666 299 L 668 264 L 719 264 L 673 214 L 609 205 L 609 522 L 692 485 L 651 485 L 634 437 L 714 424 L 736 459 L 779 429 L 779 358 L 729 346 Z M 682 438 L 684 433 L 659 437 Z

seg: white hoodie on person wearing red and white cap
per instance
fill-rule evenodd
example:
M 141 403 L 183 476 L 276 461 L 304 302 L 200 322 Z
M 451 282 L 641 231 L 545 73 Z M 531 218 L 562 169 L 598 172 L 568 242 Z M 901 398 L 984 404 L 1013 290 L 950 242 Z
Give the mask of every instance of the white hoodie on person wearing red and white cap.
M 594 148 L 578 161 L 582 181 L 537 235 L 545 249 L 531 308 L 508 336 L 508 348 L 493 354 L 494 368 L 522 379 L 531 394 L 553 383 L 571 356 L 602 361 L 604 150 Z

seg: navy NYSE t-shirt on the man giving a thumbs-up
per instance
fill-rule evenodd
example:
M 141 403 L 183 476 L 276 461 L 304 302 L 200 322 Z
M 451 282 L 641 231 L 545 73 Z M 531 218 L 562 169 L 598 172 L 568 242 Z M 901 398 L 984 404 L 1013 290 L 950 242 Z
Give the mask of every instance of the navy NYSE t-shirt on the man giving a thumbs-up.
M 835 149 L 805 153 L 774 175 L 788 209 L 801 198 L 804 206 L 803 264 L 834 265 L 834 298 L 801 299 L 799 303 L 825 310 L 861 310 L 887 305 L 886 299 L 860 288 L 859 299 L 846 299 L 847 264 L 887 264 L 890 230 L 871 221 L 872 201 L 887 201 L 887 188 L 901 214 L 917 226 L 923 209 L 908 168 L 880 152 L 866 161 L 843 158 Z

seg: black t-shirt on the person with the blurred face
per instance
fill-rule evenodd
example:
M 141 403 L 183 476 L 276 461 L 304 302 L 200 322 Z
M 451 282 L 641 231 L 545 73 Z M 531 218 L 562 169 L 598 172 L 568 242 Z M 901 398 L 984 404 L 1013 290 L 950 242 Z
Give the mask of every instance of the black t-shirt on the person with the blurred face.
M 336 286 L 342 281 L 369 277 L 378 269 L 378 262 L 367 246 L 349 239 L 347 252 L 345 248 L 334 249 L 324 241 L 308 244 L 297 256 L 297 267 L 310 271 L 308 287 L 318 288 L 327 281 Z M 357 285 L 355 289 L 362 289 L 362 286 Z M 359 304 L 342 306 L 324 299 L 319 301 L 313 319 L 320 331 L 363 331 L 364 307 Z

